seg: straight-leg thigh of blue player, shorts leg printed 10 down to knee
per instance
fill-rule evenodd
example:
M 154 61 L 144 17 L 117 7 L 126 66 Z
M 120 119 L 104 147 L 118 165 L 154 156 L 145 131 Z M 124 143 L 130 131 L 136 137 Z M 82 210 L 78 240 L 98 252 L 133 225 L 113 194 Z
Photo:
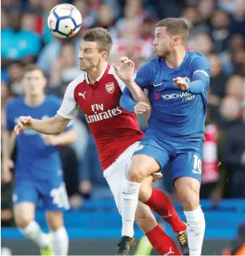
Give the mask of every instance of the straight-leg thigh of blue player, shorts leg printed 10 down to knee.
M 199 190 L 202 175 L 202 155 L 199 152 L 178 154 L 171 163 L 174 187 L 184 210 L 199 206 Z

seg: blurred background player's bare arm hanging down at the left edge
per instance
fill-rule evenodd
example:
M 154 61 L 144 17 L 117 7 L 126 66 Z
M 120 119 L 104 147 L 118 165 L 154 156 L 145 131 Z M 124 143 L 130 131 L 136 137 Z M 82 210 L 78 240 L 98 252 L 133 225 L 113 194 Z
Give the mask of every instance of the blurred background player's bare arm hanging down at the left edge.
M 13 161 L 11 154 L 16 142 L 16 135 L 14 132 L 2 131 L 2 181 L 9 182 L 12 180 L 11 169 L 13 169 Z

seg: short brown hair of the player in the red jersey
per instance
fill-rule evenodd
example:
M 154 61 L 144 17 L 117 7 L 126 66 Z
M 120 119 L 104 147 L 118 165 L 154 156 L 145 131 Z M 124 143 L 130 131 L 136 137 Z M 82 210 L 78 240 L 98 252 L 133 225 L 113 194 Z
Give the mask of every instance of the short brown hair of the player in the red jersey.
M 99 51 L 106 51 L 108 54 L 112 49 L 112 35 L 104 28 L 92 28 L 83 36 L 84 41 L 96 42 Z

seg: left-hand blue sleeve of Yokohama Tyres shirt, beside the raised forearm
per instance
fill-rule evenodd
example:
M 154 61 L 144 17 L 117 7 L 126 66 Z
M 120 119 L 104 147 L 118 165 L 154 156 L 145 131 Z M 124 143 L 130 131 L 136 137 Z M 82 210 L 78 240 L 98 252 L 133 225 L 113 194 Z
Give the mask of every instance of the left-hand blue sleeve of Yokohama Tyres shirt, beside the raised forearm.
M 149 61 L 145 63 L 141 69 L 137 71 L 136 78 L 135 78 L 135 83 L 141 89 L 149 89 L 149 87 L 152 85 L 154 82 L 154 76 L 155 76 L 155 61 Z

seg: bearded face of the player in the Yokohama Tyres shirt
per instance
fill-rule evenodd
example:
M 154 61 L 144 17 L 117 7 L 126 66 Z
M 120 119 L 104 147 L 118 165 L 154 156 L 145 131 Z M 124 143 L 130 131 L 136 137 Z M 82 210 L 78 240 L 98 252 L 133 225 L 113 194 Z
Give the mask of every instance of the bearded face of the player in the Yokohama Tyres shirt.
M 166 32 L 165 27 L 155 29 L 153 50 L 158 57 L 166 58 L 174 47 L 174 37 Z

